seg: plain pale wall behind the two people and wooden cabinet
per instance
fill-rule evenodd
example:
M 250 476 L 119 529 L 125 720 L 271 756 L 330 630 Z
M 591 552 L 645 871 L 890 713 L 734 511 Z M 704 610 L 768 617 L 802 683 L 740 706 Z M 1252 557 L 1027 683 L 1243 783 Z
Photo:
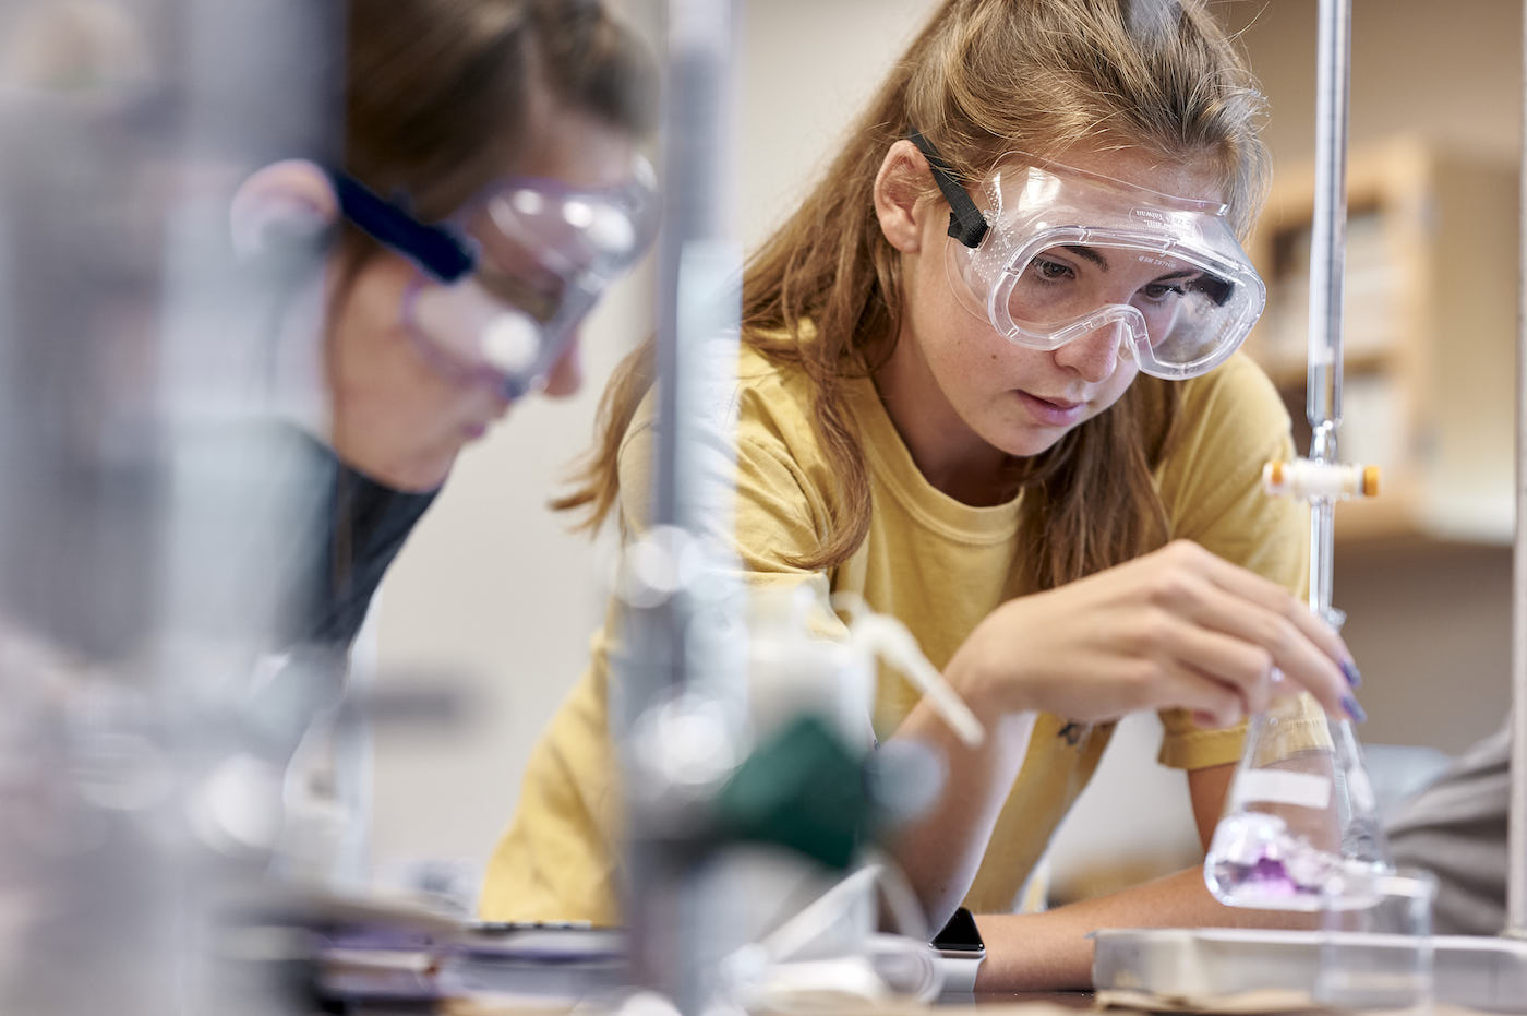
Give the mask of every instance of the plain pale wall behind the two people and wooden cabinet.
M 1267 138 L 1275 157 L 1307 156 L 1315 0 L 1215 6 L 1245 28 L 1272 101 Z M 652 0 L 631 0 L 626 9 L 652 24 Z M 744 243 L 754 244 L 788 212 L 930 9 L 931 0 L 742 3 Z M 1509 0 L 1356 0 L 1354 136 L 1403 127 L 1451 145 L 1515 153 L 1519 17 L 1519 5 Z M 629 280 L 596 313 L 585 341 L 589 382 L 577 399 L 516 406 L 463 455 L 383 587 L 382 680 L 452 678 L 470 691 L 472 707 L 458 729 L 380 732 L 374 859 L 382 868 L 415 857 L 481 863 L 513 810 L 539 729 L 583 666 L 603 611 L 609 541 L 591 545 L 568 535 L 544 504 L 565 463 L 588 442 L 603 376 L 651 330 L 652 284 L 651 273 Z M 1509 555 L 1443 552 L 1431 562 L 1451 576 L 1445 585 L 1406 562 L 1342 565 L 1338 597 L 1353 617 L 1348 634 L 1359 663 L 1374 658 L 1411 689 L 1397 697 L 1403 709 L 1390 707 L 1385 677 L 1368 666 L 1365 704 L 1374 721 L 1365 736 L 1455 750 L 1500 717 Z M 1428 617 L 1469 623 L 1440 625 L 1446 631 L 1437 642 Z M 1451 726 L 1429 739 L 1428 703 L 1435 697 L 1425 689 L 1438 672 L 1434 666 L 1477 674 L 1483 691 L 1472 709 L 1469 695 L 1451 692 Z M 1142 765 L 1154 756 L 1156 736 L 1150 717 L 1121 729 L 1102 773 L 1060 834 L 1054 853 L 1063 860 L 1061 882 L 1067 868 L 1084 874 L 1124 849 L 1153 856 L 1162 868 L 1193 860 L 1180 775 Z

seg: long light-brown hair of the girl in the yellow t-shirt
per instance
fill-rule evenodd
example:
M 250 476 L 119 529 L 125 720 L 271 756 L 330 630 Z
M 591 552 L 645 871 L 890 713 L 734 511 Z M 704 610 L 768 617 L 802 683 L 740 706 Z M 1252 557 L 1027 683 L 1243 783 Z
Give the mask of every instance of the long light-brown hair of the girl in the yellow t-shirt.
M 744 342 L 809 377 L 817 438 L 841 480 L 828 536 L 797 564 L 840 564 L 869 530 L 869 474 L 843 387 L 886 361 L 902 324 L 901 255 L 873 208 L 893 142 L 922 131 L 967 186 L 1015 148 L 1061 157 L 1073 147 L 1136 147 L 1164 160 L 1208 159 L 1245 232 L 1266 188 L 1261 115 L 1261 95 L 1200 0 L 947 0 L 745 270 Z M 927 191 L 924 200 L 942 203 L 931 177 Z M 620 438 L 651 383 L 649 344 L 617 370 L 577 486 L 554 503 L 586 509 L 589 527 L 618 497 Z M 1151 471 L 1177 402 L 1174 385 L 1142 376 L 1112 409 L 1012 463 L 1014 493 L 1028 490 L 1025 585 L 1060 585 L 1167 539 Z

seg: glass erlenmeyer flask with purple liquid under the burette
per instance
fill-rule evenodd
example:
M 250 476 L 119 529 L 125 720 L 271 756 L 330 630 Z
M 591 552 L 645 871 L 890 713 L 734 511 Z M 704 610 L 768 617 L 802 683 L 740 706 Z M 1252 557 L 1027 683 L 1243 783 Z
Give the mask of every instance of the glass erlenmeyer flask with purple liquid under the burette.
M 1307 694 L 1252 717 L 1203 878 L 1228 906 L 1361 906 L 1393 869 L 1377 801 L 1351 724 Z

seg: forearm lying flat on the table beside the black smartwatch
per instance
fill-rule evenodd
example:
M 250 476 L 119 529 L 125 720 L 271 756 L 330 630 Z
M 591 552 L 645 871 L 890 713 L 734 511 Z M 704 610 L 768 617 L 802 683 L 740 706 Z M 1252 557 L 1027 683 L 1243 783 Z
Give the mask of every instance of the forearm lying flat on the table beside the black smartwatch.
M 1229 908 L 1209 895 L 1203 869 L 1190 868 L 1044 914 L 983 914 L 986 941 L 977 992 L 1092 987 L 1092 940 L 1099 927 L 1299 927 L 1306 915 Z

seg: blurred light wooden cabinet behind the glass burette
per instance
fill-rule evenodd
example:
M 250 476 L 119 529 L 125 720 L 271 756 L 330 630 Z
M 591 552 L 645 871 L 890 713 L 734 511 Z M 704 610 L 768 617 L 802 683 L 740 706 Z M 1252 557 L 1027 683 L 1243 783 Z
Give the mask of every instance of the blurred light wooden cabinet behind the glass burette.
M 1341 454 L 1385 484 L 1338 506 L 1338 544 L 1509 542 L 1518 170 L 1419 138 L 1354 147 L 1347 170 Z M 1280 168 L 1248 244 L 1267 312 L 1246 351 L 1283 393 L 1301 454 L 1313 208 L 1313 167 Z

